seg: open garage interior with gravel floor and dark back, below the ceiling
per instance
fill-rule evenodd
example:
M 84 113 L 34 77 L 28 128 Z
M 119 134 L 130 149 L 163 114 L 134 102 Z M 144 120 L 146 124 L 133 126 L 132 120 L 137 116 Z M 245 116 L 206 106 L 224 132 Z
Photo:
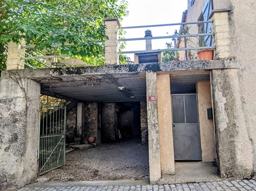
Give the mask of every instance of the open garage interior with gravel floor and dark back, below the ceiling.
M 41 178 L 47 181 L 149 179 L 148 146 L 142 143 L 145 128 L 141 130 L 141 112 L 145 109 L 141 111 L 140 101 L 85 103 L 84 138 L 80 143 L 75 141 L 80 132 L 78 107 L 74 103 L 73 108 L 68 106 L 72 102 L 65 104 L 68 107 L 66 164 L 48 170 Z M 95 137 L 95 141 L 88 143 L 88 137 Z

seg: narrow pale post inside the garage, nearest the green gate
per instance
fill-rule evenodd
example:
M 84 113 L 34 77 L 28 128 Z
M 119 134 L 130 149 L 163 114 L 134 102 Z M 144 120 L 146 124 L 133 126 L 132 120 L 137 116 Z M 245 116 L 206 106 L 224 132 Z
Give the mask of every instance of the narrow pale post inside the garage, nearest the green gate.
M 78 106 L 77 106 L 77 137 L 84 138 L 85 137 L 84 134 L 85 134 L 85 103 L 78 103 Z

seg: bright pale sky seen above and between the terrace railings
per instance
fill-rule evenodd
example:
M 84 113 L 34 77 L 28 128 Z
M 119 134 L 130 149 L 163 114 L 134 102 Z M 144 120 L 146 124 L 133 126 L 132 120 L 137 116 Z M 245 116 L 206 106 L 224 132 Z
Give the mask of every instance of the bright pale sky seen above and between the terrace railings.
M 187 9 L 187 0 L 127 0 L 129 15 L 123 18 L 122 27 L 180 23 L 182 12 Z M 153 37 L 169 36 L 177 26 L 125 29 L 125 38 L 141 38 L 146 30 L 151 30 Z M 152 40 L 152 49 L 165 49 L 171 39 Z M 146 50 L 144 41 L 128 41 L 123 51 Z M 134 61 L 134 54 L 127 54 Z

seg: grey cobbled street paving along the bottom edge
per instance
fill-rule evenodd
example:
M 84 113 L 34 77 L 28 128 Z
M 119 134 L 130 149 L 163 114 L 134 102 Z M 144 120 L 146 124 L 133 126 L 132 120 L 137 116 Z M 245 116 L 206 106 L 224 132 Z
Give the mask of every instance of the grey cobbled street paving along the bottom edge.
M 136 185 L 136 183 L 139 185 Z M 107 186 L 111 184 L 112 186 Z M 130 186 L 128 186 L 129 184 Z M 147 182 L 143 181 L 35 183 L 18 191 L 256 191 L 256 181 L 251 179 L 205 183 L 167 184 L 161 186 L 148 185 Z

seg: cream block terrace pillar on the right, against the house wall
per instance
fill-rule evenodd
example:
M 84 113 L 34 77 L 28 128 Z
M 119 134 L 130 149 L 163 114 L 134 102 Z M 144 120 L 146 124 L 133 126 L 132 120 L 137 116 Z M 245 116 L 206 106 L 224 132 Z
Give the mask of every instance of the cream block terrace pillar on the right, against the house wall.
M 213 45 L 216 46 L 216 59 L 231 57 L 229 11 L 230 9 L 214 9 L 209 16 L 213 20 L 212 32 L 215 34 Z

